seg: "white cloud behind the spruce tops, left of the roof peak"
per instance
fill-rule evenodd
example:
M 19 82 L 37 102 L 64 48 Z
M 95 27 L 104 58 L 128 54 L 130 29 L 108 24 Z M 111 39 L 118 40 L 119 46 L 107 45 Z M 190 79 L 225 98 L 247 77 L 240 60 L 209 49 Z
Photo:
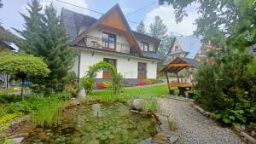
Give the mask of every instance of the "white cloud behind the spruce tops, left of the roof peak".
M 86 9 L 88 9 L 88 5 L 87 5 L 87 3 L 85 3 L 85 0 L 75 0 L 75 1 L 74 0 L 61 0 L 61 1 L 65 2 L 65 3 L 61 3 L 60 1 L 56 1 L 56 0 L 41 0 L 40 3 L 44 9 L 47 5 L 49 5 L 50 3 L 53 3 L 55 8 L 57 9 L 58 14 L 61 14 L 61 8 L 70 9 L 70 10 L 73 10 L 73 11 L 81 13 L 81 14 L 89 14 L 89 11 L 86 10 Z M 79 7 L 85 8 L 85 9 L 81 9 L 81 8 L 75 7 L 73 5 L 69 5 L 67 3 L 71 3 L 73 5 L 77 5 Z M 27 14 L 26 7 L 27 7 L 27 4 L 23 5 L 21 7 L 20 12 L 22 14 Z

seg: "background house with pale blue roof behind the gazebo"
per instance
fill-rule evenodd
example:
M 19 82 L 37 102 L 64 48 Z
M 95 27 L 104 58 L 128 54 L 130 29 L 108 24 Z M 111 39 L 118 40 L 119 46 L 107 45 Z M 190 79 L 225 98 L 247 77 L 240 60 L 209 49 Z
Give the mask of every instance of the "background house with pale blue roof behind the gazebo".
M 207 44 L 201 43 L 201 38 L 193 35 L 187 37 L 175 37 L 167 53 L 167 58 L 164 64 L 168 64 L 177 57 L 203 61 L 207 57 L 207 52 L 212 49 L 214 48 L 211 46 L 210 41 Z

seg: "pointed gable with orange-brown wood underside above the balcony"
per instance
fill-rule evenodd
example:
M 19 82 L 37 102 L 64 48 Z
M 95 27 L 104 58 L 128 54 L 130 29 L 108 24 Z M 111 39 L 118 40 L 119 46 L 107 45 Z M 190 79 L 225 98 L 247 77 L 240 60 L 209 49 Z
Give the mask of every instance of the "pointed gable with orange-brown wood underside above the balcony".
M 108 10 L 106 14 L 103 14 L 99 20 L 96 20 L 91 26 L 84 30 L 84 32 L 80 33 L 79 36 L 73 41 L 73 45 L 79 43 L 79 41 L 84 38 L 86 33 L 90 32 L 96 26 L 108 27 L 120 32 L 124 32 L 125 37 L 131 47 L 135 49 L 137 54 L 141 54 L 141 49 L 139 48 L 136 38 L 131 32 L 131 28 L 125 19 L 125 15 L 121 11 L 119 4 L 114 5 L 113 8 Z

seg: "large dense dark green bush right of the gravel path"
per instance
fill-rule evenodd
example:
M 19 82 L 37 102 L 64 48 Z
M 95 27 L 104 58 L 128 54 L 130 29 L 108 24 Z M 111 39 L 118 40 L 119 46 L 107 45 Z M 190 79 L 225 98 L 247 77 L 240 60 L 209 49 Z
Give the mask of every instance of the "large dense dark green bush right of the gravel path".
M 212 52 L 213 63 L 201 65 L 196 81 L 201 90 L 201 105 L 216 111 L 225 124 L 249 124 L 256 119 L 256 75 L 248 68 L 255 58 L 238 49 Z

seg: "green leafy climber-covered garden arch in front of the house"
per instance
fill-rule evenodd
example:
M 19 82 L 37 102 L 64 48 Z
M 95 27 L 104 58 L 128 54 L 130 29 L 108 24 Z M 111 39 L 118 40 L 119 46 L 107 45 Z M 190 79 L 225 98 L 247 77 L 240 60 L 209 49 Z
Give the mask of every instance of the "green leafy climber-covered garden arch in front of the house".
M 117 72 L 116 68 L 109 64 L 108 62 L 101 61 L 89 67 L 86 76 L 82 78 L 82 86 L 86 89 L 87 93 L 91 93 L 95 87 L 96 73 L 102 71 L 103 69 L 108 69 L 113 77 L 113 93 L 117 94 L 121 90 L 120 80 L 122 76 Z

